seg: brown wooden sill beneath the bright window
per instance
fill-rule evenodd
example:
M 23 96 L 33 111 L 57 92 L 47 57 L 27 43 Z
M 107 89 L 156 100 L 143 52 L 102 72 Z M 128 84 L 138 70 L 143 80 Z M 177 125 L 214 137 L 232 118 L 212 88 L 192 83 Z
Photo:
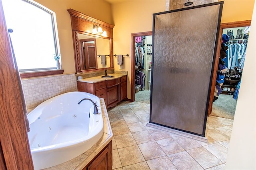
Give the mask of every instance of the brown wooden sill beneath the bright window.
M 32 77 L 40 77 L 40 76 L 49 76 L 55 74 L 63 74 L 64 70 L 40 70 L 33 72 L 20 72 L 20 78 L 32 78 Z

